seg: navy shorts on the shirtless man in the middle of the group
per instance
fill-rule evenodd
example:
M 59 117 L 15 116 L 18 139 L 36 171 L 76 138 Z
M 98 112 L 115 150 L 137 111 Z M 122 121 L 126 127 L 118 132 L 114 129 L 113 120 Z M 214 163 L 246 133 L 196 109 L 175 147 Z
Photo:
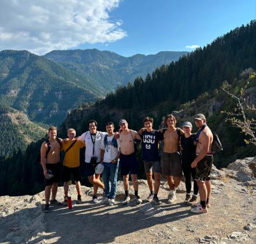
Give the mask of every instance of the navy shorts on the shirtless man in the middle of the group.
M 121 174 L 138 174 L 138 162 L 135 153 L 124 155 L 120 154 Z

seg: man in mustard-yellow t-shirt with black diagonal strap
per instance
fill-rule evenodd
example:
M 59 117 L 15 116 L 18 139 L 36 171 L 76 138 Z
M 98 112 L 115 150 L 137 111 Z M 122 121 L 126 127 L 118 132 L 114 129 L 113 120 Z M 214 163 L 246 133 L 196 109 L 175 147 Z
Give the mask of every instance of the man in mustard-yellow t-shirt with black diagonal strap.
M 63 159 L 63 171 L 62 181 L 64 182 L 64 202 L 63 205 L 67 205 L 68 201 L 68 182 L 71 175 L 76 183 L 77 190 L 77 204 L 82 203 L 81 199 L 81 171 L 79 161 L 79 150 L 85 146 L 83 141 L 75 140 L 76 131 L 74 129 L 68 129 L 68 139 L 66 143 L 62 144 L 61 150 L 65 151 L 65 157 Z

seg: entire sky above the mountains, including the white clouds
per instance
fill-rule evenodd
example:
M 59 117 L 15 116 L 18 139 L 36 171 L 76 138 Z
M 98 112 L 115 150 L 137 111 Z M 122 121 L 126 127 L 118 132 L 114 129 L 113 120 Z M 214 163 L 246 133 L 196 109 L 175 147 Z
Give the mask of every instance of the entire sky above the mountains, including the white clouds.
M 1 0 L 0 51 L 193 51 L 256 19 L 256 0 Z

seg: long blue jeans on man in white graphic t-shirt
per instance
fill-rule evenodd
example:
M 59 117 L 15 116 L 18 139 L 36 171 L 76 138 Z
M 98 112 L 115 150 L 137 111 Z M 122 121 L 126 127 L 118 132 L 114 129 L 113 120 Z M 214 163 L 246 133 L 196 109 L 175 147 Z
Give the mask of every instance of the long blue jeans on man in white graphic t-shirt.
M 119 161 L 115 164 L 103 162 L 103 165 L 104 170 L 102 175 L 105 186 L 105 196 L 110 199 L 115 199 Z

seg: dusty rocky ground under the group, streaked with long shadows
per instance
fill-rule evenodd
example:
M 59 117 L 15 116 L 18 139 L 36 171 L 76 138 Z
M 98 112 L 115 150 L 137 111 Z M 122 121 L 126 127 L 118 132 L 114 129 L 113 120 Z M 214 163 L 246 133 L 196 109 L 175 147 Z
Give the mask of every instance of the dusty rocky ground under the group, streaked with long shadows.
M 168 187 L 162 182 L 161 206 L 146 200 L 140 205 L 131 200 L 129 205 L 122 206 L 122 182 L 118 182 L 114 206 L 92 204 L 92 189 L 86 187 L 83 187 L 83 204 L 76 205 L 75 186 L 70 186 L 72 210 L 52 206 L 51 212 L 43 213 L 43 192 L 35 196 L 0 197 L 0 242 L 256 243 L 256 180 L 251 169 L 254 163 L 255 158 L 247 158 L 229 165 L 228 170 L 213 170 L 211 207 L 207 214 L 190 213 L 191 207 L 183 203 L 183 182 L 174 204 L 167 203 Z M 249 179 L 245 180 L 242 174 L 249 175 Z M 140 180 L 139 186 L 145 199 L 149 193 L 147 182 Z M 61 187 L 57 199 L 62 198 Z

